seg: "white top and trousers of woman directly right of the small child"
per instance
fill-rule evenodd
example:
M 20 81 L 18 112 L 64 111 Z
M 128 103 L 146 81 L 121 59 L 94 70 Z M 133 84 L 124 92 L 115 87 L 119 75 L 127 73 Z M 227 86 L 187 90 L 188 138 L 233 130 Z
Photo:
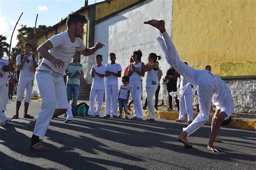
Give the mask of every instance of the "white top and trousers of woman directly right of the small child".
M 134 65 L 139 72 L 142 69 L 142 62 L 137 63 L 137 65 L 133 62 L 131 65 Z M 133 72 L 130 76 L 129 86 L 134 107 L 133 117 L 143 118 L 142 100 L 140 99 L 142 97 L 142 76 Z

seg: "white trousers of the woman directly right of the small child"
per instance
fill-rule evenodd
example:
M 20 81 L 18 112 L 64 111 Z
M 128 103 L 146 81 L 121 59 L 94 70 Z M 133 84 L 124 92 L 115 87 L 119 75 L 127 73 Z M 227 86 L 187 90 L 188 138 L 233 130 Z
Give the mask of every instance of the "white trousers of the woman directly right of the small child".
M 142 110 L 142 81 L 130 82 L 130 92 L 133 100 L 133 117 L 143 118 Z

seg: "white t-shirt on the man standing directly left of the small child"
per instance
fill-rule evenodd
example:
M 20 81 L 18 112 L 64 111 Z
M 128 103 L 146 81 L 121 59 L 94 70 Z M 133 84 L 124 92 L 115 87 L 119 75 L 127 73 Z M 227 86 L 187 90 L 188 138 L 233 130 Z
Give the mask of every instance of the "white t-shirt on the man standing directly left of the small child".
M 113 73 L 118 73 L 122 71 L 121 65 L 118 63 L 114 63 L 111 65 L 110 63 L 106 64 L 106 69 Z M 117 85 L 118 86 L 118 77 L 113 74 L 106 77 L 106 85 Z

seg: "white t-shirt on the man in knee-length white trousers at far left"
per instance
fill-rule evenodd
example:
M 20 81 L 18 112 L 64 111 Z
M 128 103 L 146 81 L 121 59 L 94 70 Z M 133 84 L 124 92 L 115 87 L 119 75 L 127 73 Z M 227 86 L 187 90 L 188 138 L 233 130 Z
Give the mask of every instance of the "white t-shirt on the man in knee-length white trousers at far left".
M 24 58 L 25 58 L 25 55 L 23 56 L 23 60 L 24 60 Z M 29 59 L 29 62 L 25 61 L 24 65 L 21 69 L 21 73 L 19 73 L 19 80 L 34 80 L 35 79 L 34 72 L 30 70 L 30 67 L 33 66 L 32 55 L 30 55 L 28 57 L 28 59 Z M 22 61 L 21 61 L 21 54 L 17 55 L 16 64 L 21 65 Z M 35 58 L 35 62 L 36 62 L 36 58 Z

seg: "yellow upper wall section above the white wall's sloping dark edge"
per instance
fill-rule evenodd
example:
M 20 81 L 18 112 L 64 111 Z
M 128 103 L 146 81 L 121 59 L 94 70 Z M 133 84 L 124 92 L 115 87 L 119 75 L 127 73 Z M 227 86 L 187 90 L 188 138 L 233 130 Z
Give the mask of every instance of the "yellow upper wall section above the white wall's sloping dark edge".
M 139 0 L 111 0 L 110 3 L 102 3 L 96 6 L 96 20 L 110 15 L 113 12 L 126 8 Z

